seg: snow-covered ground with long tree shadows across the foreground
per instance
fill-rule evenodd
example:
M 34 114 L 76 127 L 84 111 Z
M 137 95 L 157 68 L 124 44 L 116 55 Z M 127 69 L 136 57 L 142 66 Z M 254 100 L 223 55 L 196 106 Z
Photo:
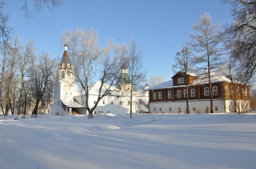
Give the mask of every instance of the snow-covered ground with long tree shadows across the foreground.
M 256 115 L 29 117 L 0 116 L 0 168 L 256 167 Z

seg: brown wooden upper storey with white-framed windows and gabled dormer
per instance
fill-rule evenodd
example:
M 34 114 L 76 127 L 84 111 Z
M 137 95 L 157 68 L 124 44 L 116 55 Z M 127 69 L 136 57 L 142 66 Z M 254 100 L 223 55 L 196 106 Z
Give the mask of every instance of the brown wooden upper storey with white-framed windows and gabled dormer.
M 186 75 L 177 73 L 172 77 L 172 81 L 167 81 L 168 85 L 158 85 L 153 89 L 149 88 L 149 102 L 167 102 L 167 101 L 183 101 L 186 100 L 186 85 L 179 78 L 186 78 Z M 210 99 L 210 88 L 207 81 L 197 79 L 196 76 L 187 75 L 189 80 L 188 85 L 188 100 Z M 224 79 L 224 78 L 223 78 Z M 226 81 L 224 81 L 226 80 Z M 249 86 L 234 84 L 228 82 L 227 79 L 216 81 L 213 78 L 212 97 L 213 99 L 249 99 Z M 179 82 L 178 82 L 179 81 Z M 172 84 L 171 84 L 172 83 Z M 180 83 L 180 84 L 178 84 Z

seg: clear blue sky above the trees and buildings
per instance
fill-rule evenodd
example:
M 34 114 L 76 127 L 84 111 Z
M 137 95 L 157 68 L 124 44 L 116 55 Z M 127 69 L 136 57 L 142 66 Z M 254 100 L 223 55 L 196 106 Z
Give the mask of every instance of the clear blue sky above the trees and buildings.
M 9 12 L 15 35 L 23 42 L 36 40 L 36 45 L 53 57 L 63 54 L 60 34 L 76 29 L 93 27 L 99 32 L 99 45 L 103 47 L 109 38 L 116 43 L 130 41 L 131 35 L 145 55 L 148 79 L 163 75 L 169 80 L 172 75 L 173 58 L 189 41 L 193 24 L 204 11 L 212 16 L 213 23 L 230 23 L 230 6 L 221 0 L 63 0 L 63 6 L 53 12 L 44 9 L 34 11 L 33 0 L 28 5 L 35 19 L 26 19 L 20 7 L 25 0 L 5 0 L 4 12 Z

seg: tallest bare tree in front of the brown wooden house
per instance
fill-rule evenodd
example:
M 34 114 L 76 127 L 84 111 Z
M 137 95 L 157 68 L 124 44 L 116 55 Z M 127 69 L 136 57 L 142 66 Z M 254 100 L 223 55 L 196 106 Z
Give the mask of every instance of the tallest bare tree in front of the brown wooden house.
M 206 66 L 198 67 L 198 70 L 207 68 L 209 90 L 210 90 L 210 100 L 211 100 L 211 110 L 213 113 L 213 100 L 212 100 L 212 84 L 211 84 L 211 72 L 213 72 L 221 64 L 224 64 L 222 54 L 225 50 L 220 46 L 222 40 L 221 27 L 218 25 L 212 25 L 212 18 L 210 14 L 204 13 L 201 15 L 199 23 L 194 25 L 195 31 L 199 32 L 195 35 L 190 35 L 192 41 L 190 45 L 192 49 L 199 54 L 196 56 L 196 62 L 199 65 L 206 63 Z

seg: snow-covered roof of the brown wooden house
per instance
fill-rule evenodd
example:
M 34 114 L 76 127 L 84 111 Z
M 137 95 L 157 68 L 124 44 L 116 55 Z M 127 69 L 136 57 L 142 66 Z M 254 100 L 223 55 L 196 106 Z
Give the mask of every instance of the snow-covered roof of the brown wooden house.
M 215 72 L 211 72 L 211 82 L 216 83 L 216 82 L 231 82 L 230 79 L 228 79 L 226 76 L 222 76 L 220 74 L 217 74 Z M 200 85 L 200 84 L 207 84 L 209 83 L 208 79 L 208 74 L 190 74 L 191 76 L 196 76 L 196 79 L 189 85 Z M 184 87 L 185 85 L 180 85 L 180 86 L 173 86 L 173 81 L 166 81 L 164 83 L 161 83 L 157 86 L 154 86 L 152 88 L 148 88 L 147 90 L 154 90 L 154 89 L 162 89 L 162 88 L 172 88 L 172 87 Z

